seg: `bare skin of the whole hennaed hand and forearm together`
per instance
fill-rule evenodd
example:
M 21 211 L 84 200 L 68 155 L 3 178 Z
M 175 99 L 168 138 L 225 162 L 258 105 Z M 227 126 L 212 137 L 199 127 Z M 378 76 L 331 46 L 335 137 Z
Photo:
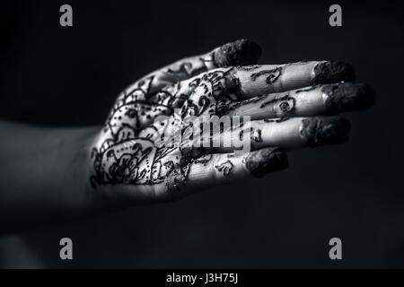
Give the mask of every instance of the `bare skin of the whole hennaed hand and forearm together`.
M 369 86 L 347 83 L 355 79 L 351 65 L 257 65 L 259 55 L 257 44 L 238 40 L 147 74 L 120 93 L 102 127 L 0 122 L 11 135 L 0 143 L 8 167 L 0 174 L 2 230 L 171 201 L 283 170 L 287 150 L 347 140 L 347 121 L 328 115 L 373 104 Z M 251 122 L 203 135 L 217 146 L 159 142 L 164 132 L 187 135 L 195 119 L 215 116 Z M 248 140 L 251 151 L 224 144 L 232 138 Z

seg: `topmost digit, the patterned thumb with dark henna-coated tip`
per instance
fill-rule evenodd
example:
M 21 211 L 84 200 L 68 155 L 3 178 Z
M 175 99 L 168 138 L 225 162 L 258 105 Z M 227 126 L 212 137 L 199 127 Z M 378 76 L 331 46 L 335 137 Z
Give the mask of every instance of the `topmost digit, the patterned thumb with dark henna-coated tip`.
M 154 89 L 160 89 L 211 69 L 256 64 L 260 55 L 261 48 L 258 44 L 248 39 L 239 39 L 206 54 L 180 59 L 150 75 L 154 75 Z

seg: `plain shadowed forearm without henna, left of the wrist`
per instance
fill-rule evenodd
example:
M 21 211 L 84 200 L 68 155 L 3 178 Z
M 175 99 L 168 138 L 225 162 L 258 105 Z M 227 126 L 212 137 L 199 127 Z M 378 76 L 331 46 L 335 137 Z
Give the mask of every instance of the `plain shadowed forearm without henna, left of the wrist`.
M 98 130 L 0 121 L 0 232 L 100 207 L 89 181 L 91 144 Z

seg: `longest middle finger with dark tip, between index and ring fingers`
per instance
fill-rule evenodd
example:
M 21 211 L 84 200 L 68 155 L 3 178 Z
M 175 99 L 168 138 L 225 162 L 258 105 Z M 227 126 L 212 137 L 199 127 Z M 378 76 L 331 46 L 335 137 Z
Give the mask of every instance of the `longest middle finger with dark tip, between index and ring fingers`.
M 333 83 L 219 106 L 219 116 L 250 116 L 251 120 L 273 117 L 312 117 L 337 115 L 341 112 L 364 110 L 373 106 L 375 93 L 364 83 Z

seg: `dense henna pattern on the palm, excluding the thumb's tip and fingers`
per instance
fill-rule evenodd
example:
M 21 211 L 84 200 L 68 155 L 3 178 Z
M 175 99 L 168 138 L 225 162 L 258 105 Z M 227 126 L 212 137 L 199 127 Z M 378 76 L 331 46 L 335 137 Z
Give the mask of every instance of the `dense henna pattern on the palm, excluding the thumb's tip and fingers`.
M 187 63 L 178 69 L 170 67 L 167 73 L 184 71 L 194 73 Z M 155 139 L 166 129 L 179 130 L 183 135 L 191 124 L 188 117 L 214 115 L 217 105 L 230 104 L 232 94 L 240 88 L 233 68 L 202 74 L 189 83 L 189 95 L 180 93 L 180 83 L 152 91 L 152 86 L 158 86 L 156 81 L 160 81 L 158 77 L 147 76 L 117 99 L 100 141 L 92 149 L 92 187 L 162 184 L 168 190 L 179 190 L 192 163 L 206 165 L 210 161 L 204 148 L 182 148 L 185 142 L 180 146 L 158 146 Z M 180 115 L 174 114 L 173 106 L 181 107 Z M 166 116 L 167 120 L 154 123 L 159 116 Z M 226 164 L 220 170 L 227 175 L 232 167 Z

